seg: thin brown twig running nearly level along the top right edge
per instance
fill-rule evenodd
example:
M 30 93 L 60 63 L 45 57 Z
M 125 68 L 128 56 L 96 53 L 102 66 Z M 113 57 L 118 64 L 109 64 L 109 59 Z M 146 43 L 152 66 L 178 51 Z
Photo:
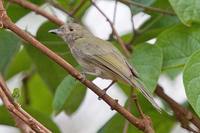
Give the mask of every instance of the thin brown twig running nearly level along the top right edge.
M 127 5 L 133 5 L 133 6 L 137 6 L 139 8 L 143 8 L 147 11 L 152 11 L 152 12 L 157 12 L 157 13 L 161 13 L 163 15 L 171 15 L 171 16 L 176 16 L 176 14 L 174 12 L 170 12 L 170 11 L 166 11 L 160 8 L 156 8 L 156 7 L 149 7 L 149 6 L 145 6 L 143 4 L 137 3 L 135 1 L 131 1 L 131 0 L 119 0 L 120 2 L 127 4 Z

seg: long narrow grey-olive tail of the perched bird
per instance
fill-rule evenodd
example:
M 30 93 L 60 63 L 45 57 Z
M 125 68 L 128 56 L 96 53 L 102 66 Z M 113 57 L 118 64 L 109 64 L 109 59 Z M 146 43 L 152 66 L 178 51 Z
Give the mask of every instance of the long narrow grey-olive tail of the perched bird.
M 159 111 L 161 112 L 161 108 L 158 106 L 158 104 L 154 101 L 153 99 L 153 95 L 151 94 L 151 92 L 149 92 L 147 89 L 145 89 L 144 84 L 136 77 L 133 77 L 130 80 L 130 84 L 133 87 L 138 88 L 141 93 L 147 98 L 147 100 Z

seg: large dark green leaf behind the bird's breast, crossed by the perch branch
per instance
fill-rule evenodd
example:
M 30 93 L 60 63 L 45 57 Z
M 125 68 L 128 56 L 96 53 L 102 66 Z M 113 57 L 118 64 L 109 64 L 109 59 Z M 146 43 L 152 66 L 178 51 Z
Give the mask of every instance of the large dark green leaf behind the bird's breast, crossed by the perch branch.
M 76 66 L 76 62 L 70 54 L 67 44 L 58 36 L 48 33 L 50 29 L 54 28 L 55 25 L 49 22 L 45 23 L 38 31 L 37 39 L 48 48 L 62 56 L 70 64 Z M 62 79 L 67 75 L 67 72 L 33 46 L 25 45 L 25 47 L 27 48 L 28 54 L 33 59 L 39 74 L 44 79 L 48 87 L 54 91 Z

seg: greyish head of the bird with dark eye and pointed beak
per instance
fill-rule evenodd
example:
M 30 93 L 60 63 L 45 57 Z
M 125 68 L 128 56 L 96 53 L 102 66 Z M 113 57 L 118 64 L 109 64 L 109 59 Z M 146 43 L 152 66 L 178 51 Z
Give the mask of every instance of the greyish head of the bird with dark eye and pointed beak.
M 85 27 L 76 23 L 67 23 L 58 29 L 52 29 L 50 33 L 56 34 L 70 43 L 79 38 L 91 36 L 91 33 Z

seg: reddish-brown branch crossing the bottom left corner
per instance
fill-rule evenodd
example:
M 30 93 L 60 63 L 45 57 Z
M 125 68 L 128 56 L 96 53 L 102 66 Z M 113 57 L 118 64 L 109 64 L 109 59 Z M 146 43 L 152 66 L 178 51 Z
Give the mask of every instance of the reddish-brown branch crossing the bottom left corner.
M 12 114 L 14 119 L 18 122 L 18 126 L 22 128 L 22 126 L 30 126 L 36 132 L 39 133 L 51 133 L 46 127 L 40 124 L 37 120 L 31 117 L 28 113 L 26 113 L 18 103 L 14 101 L 11 96 L 11 92 L 8 89 L 3 77 L 0 75 L 0 97 L 8 109 L 8 111 Z M 20 119 L 20 120 L 19 120 Z M 21 123 L 23 121 L 23 123 Z M 21 125 L 20 125 L 21 124 Z M 26 125 L 24 125 L 26 124 Z M 24 129 L 22 129 L 24 130 Z

